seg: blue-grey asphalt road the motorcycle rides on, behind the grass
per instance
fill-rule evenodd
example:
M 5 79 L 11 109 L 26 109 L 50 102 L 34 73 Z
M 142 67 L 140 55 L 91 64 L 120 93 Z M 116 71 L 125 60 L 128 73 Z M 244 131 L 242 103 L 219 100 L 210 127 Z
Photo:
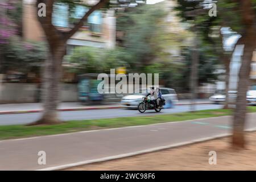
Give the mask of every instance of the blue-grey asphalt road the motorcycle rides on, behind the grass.
M 221 105 L 201 104 L 196 105 L 197 110 L 220 109 Z M 163 109 L 160 114 L 181 113 L 189 111 L 189 105 L 175 106 L 172 109 Z M 159 114 L 154 110 L 147 110 L 146 113 L 139 113 L 138 110 L 131 109 L 100 109 L 100 110 L 84 110 L 84 111 L 61 111 L 59 117 L 62 121 L 83 120 L 83 119 L 101 119 L 101 118 L 117 118 L 117 117 L 134 117 L 143 115 Z M 42 113 L 26 113 L 26 114 L 3 114 L 0 115 L 0 125 L 22 125 L 36 121 Z

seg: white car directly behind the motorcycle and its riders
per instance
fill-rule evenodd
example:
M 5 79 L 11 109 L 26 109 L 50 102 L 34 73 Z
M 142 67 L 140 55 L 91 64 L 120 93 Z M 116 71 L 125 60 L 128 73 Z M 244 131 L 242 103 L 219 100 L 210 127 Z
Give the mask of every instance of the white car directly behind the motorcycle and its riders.
M 142 89 L 142 93 L 149 93 L 150 89 Z M 163 98 L 166 100 L 166 105 L 164 108 L 171 108 L 176 104 L 177 94 L 174 89 L 171 88 L 160 88 Z M 146 94 L 131 94 L 122 98 L 121 105 L 130 109 L 137 109 L 139 103 L 142 101 L 142 97 Z M 154 98 L 151 98 L 154 99 Z

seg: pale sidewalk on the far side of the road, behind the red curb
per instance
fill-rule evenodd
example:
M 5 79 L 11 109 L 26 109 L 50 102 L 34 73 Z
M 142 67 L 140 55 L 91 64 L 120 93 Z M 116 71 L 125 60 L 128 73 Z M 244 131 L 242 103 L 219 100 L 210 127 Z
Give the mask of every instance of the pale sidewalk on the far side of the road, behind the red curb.
M 197 100 L 196 104 L 211 104 L 207 99 Z M 190 105 L 190 100 L 180 100 L 177 105 Z M 94 109 L 117 109 L 122 105 L 117 103 L 108 103 L 102 105 L 81 105 L 80 102 L 62 102 L 59 111 L 74 110 L 94 110 Z M 20 113 L 39 113 L 43 110 L 41 103 L 24 103 L 24 104 L 0 104 L 0 114 L 20 114 Z

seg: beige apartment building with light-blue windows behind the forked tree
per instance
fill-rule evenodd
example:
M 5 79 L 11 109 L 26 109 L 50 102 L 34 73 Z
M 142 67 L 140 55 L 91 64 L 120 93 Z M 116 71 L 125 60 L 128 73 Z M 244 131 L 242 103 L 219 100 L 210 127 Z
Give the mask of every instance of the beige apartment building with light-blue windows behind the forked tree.
M 52 24 L 62 30 L 68 30 L 73 21 L 80 19 L 88 7 L 76 5 L 72 13 L 67 3 L 55 3 Z M 42 41 L 44 33 L 37 20 L 35 0 L 23 0 L 23 38 Z M 113 10 L 96 10 L 84 23 L 84 26 L 67 42 L 67 53 L 76 46 L 97 48 L 115 47 L 115 16 Z

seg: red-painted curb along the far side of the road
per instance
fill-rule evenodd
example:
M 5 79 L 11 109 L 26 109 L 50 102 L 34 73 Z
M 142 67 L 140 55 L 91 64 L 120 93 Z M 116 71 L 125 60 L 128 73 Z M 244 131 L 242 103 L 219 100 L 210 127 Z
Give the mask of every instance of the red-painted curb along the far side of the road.
M 201 104 L 212 104 L 212 102 L 204 102 L 204 103 L 196 103 L 196 105 Z M 176 104 L 176 106 L 183 106 L 183 105 L 191 105 L 191 104 Z M 79 111 L 79 110 L 98 110 L 98 109 L 121 109 L 123 106 L 102 106 L 102 107 L 80 107 L 80 108 L 73 108 L 73 109 L 58 109 L 58 111 Z M 19 111 L 0 111 L 0 115 L 3 114 L 27 114 L 27 113 L 42 113 L 42 109 L 36 110 L 19 110 Z

